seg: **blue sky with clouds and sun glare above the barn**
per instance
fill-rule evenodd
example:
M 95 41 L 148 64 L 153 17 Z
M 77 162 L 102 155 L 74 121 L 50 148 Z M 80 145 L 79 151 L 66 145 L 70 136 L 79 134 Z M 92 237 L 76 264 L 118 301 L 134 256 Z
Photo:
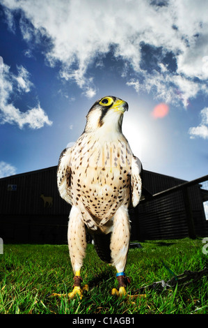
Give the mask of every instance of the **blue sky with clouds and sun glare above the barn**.
M 108 95 L 145 170 L 207 174 L 207 17 L 203 0 L 2 0 L 0 177 L 57 165 Z

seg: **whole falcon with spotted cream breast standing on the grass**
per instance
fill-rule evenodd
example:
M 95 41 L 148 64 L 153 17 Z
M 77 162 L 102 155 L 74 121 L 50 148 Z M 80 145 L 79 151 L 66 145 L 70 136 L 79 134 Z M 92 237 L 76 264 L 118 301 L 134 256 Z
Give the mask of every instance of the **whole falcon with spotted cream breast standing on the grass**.
M 125 295 L 125 264 L 129 250 L 128 208 L 141 197 L 141 162 L 122 134 L 128 104 L 106 96 L 95 102 L 86 116 L 86 127 L 73 147 L 59 158 L 57 181 L 61 197 L 72 205 L 68 246 L 74 271 L 74 289 L 68 295 L 81 298 L 80 271 L 86 253 L 86 230 L 99 258 L 115 266 L 119 290 Z

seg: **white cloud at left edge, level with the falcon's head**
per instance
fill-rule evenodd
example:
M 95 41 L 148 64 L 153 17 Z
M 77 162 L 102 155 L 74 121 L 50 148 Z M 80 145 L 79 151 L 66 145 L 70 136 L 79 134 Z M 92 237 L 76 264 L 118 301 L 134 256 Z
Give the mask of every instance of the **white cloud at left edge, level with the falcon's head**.
M 0 74 L 0 119 L 1 124 L 17 124 L 19 128 L 28 125 L 29 128 L 42 128 L 44 124 L 51 125 L 47 114 L 36 105 L 26 112 L 21 112 L 19 108 L 10 101 L 11 96 L 29 92 L 33 84 L 29 80 L 29 72 L 23 66 L 17 66 L 17 75 L 10 72 L 8 65 L 3 64 L 3 73 Z

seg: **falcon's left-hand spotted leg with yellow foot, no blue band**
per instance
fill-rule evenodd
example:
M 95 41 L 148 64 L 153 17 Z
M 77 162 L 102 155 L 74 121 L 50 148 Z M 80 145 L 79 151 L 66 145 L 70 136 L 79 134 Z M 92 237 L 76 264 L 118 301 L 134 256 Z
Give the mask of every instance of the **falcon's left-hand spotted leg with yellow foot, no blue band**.
M 81 212 L 76 206 L 72 206 L 70 211 L 67 237 L 72 269 L 74 271 L 74 289 L 70 292 L 68 297 L 72 299 L 76 294 L 78 294 L 81 298 L 83 295 L 83 290 L 88 289 L 87 285 L 85 285 L 83 289 L 81 288 L 82 278 L 80 276 L 83 258 L 86 254 L 87 243 L 86 230 L 82 221 Z

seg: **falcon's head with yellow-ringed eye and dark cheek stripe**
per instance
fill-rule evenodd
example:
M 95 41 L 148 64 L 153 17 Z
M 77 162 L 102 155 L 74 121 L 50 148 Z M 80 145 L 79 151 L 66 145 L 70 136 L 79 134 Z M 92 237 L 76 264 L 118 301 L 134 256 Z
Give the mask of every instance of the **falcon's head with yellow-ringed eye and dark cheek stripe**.
M 90 108 L 84 132 L 97 131 L 99 128 L 122 131 L 122 116 L 128 104 L 117 97 L 106 96 L 97 100 Z

